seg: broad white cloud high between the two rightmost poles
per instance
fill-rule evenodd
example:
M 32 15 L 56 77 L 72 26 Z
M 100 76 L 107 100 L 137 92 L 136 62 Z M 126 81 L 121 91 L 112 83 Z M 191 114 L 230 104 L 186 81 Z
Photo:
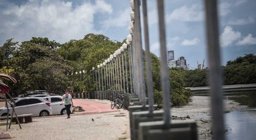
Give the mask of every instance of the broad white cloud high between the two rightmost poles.
M 182 6 L 172 11 L 166 16 L 167 22 L 171 21 L 202 21 L 204 18 L 204 11 L 201 4 L 192 4 L 191 7 Z

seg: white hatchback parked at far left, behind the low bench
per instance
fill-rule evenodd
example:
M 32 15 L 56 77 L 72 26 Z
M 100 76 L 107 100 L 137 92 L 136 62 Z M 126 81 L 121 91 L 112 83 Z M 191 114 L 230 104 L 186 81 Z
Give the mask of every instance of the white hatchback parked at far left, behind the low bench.
M 12 107 L 9 105 L 10 114 L 12 114 Z M 32 117 L 49 116 L 52 114 L 51 103 L 44 100 L 42 97 L 26 97 L 15 101 L 15 112 L 17 115 L 33 114 Z M 7 116 L 7 108 L 0 108 L 0 116 Z

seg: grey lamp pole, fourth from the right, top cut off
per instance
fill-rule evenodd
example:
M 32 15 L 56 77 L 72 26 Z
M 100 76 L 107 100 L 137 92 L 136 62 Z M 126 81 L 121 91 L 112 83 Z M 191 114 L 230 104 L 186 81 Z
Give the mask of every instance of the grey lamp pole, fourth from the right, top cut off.
M 138 74 L 138 77 L 136 78 L 138 81 L 139 88 L 138 92 L 140 95 L 140 101 L 143 106 L 146 105 L 146 89 L 145 89 L 145 76 L 144 76 L 144 63 L 143 63 L 143 52 L 142 52 L 142 39 L 141 39 L 141 25 L 140 25 L 140 1 L 139 0 L 134 0 L 135 5 L 134 5 L 134 21 L 135 21 L 135 33 L 136 33 L 136 38 L 135 42 L 136 43 L 136 71 Z

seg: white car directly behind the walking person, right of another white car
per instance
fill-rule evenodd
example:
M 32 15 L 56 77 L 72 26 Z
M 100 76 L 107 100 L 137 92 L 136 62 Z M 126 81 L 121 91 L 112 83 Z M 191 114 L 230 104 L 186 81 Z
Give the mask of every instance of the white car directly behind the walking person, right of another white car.
M 45 100 L 48 100 L 51 103 L 51 108 L 52 108 L 52 115 L 66 115 L 67 110 L 66 107 L 63 103 L 61 104 L 62 101 L 62 96 L 47 96 L 44 97 Z M 72 106 L 70 107 L 71 113 L 73 112 Z

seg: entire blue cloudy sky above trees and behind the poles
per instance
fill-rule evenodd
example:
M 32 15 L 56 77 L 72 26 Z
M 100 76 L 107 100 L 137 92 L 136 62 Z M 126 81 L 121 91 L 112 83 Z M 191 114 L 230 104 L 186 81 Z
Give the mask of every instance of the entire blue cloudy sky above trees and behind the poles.
M 150 51 L 160 57 L 156 0 L 147 0 L 147 8 Z M 204 9 L 203 0 L 165 0 L 166 48 L 175 59 L 185 57 L 191 69 L 204 59 L 208 66 Z M 32 37 L 65 43 L 88 33 L 122 41 L 131 11 L 130 0 L 0 0 L 0 46 L 10 38 L 19 44 Z M 219 0 L 218 12 L 221 65 L 256 53 L 256 1 Z

